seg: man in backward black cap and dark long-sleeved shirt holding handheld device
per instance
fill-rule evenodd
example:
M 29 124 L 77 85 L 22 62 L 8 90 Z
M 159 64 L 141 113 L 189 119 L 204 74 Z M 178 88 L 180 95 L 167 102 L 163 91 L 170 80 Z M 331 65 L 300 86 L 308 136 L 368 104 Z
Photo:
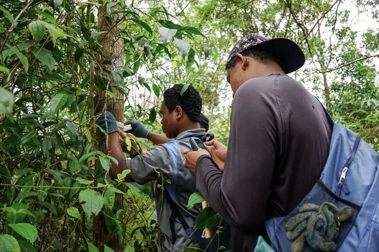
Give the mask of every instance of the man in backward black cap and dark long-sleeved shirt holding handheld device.
M 332 128 L 323 108 L 286 75 L 304 61 L 289 39 L 239 40 L 226 62 L 234 97 L 228 148 L 212 141 L 212 158 L 205 150 L 186 155 L 196 188 L 232 226 L 234 252 L 253 251 L 259 235 L 270 243 L 264 221 L 290 213 L 326 163 Z

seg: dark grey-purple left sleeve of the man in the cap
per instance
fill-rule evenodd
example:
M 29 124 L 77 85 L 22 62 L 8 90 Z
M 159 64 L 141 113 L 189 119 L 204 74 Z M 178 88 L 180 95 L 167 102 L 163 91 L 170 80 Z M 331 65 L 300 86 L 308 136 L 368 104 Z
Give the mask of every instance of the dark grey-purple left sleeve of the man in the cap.
M 196 187 L 208 203 L 245 234 L 266 219 L 282 127 L 274 85 L 272 90 L 266 83 L 253 85 L 245 83 L 235 94 L 223 173 L 202 156 L 196 174 Z

